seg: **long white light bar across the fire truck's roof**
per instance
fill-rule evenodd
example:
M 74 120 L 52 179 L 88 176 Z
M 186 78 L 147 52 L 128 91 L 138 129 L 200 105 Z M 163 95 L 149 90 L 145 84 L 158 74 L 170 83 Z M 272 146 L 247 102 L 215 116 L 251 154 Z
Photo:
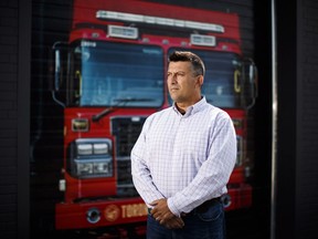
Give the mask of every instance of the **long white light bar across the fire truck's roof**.
M 118 21 L 142 22 L 149 24 L 170 25 L 170 27 L 189 28 L 189 29 L 224 33 L 224 27 L 220 24 L 197 22 L 197 21 L 184 21 L 180 19 L 170 19 L 170 18 L 159 18 L 153 15 L 142 15 L 135 13 L 98 10 L 96 12 L 96 18 L 102 20 L 113 19 Z

